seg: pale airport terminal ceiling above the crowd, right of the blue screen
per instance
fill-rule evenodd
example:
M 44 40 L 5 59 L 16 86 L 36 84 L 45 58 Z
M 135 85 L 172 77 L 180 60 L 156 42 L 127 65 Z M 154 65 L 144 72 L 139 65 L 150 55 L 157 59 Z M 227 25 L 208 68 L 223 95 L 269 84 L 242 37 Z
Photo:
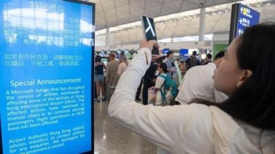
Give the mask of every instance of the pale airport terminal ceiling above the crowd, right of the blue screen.
M 143 39 L 140 16 L 154 17 L 158 39 L 199 34 L 199 8 L 206 7 L 206 34 L 228 32 L 231 5 L 248 5 L 261 13 L 260 22 L 275 21 L 275 0 L 87 0 L 96 3 L 96 45 L 133 44 Z

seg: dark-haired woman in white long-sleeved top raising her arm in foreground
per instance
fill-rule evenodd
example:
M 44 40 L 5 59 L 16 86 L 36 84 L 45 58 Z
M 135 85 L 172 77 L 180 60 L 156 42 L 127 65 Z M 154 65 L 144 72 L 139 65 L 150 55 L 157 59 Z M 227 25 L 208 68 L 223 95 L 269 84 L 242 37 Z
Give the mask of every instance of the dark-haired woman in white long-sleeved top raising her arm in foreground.
M 168 153 L 275 153 L 275 25 L 247 28 L 214 73 L 220 104 L 137 104 L 135 89 L 156 41 L 142 42 L 115 89 L 109 115 Z

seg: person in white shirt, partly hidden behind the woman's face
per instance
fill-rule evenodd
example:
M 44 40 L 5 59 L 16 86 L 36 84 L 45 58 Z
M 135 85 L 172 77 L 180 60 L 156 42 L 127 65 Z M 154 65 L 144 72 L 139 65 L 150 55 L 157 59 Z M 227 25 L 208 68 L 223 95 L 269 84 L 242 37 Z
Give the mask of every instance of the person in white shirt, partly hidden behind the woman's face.
M 223 102 L 228 98 L 225 94 L 214 89 L 214 70 L 217 69 L 224 56 L 219 52 L 213 63 L 192 67 L 186 72 L 179 85 L 179 93 L 175 100 L 181 104 L 190 104 L 194 99 L 203 99 L 210 102 Z

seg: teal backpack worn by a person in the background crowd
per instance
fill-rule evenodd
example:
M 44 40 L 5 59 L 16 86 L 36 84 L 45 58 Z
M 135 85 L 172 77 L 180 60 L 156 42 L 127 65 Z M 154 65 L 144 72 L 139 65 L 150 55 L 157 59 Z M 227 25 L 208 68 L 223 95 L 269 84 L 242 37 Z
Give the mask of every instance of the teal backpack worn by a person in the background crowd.
M 164 76 L 161 74 L 160 77 L 164 78 L 164 84 L 162 85 L 162 87 L 164 87 L 164 91 L 162 88 L 160 89 L 160 93 L 162 94 L 162 102 L 167 102 L 170 104 L 170 102 L 177 96 L 177 84 L 169 76 Z

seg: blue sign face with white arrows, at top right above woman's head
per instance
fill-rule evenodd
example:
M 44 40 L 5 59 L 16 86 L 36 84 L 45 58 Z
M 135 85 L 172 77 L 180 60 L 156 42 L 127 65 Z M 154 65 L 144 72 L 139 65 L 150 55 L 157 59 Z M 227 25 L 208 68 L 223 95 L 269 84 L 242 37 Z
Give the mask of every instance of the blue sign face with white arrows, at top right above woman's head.
M 239 16 L 237 19 L 236 35 L 240 36 L 243 34 L 245 28 L 259 23 L 260 13 L 248 8 L 245 5 L 239 5 Z

